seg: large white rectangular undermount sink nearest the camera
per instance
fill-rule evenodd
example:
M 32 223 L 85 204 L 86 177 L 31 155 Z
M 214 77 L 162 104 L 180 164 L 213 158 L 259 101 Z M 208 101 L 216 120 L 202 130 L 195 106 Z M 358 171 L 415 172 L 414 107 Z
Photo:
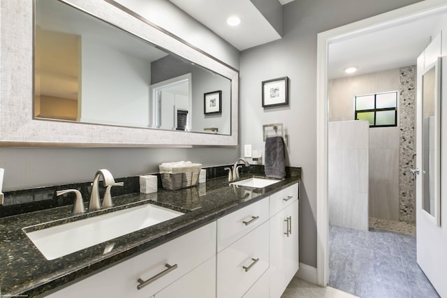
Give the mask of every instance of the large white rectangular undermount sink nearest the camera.
M 26 234 L 47 260 L 54 260 L 181 215 L 182 212 L 144 204 Z

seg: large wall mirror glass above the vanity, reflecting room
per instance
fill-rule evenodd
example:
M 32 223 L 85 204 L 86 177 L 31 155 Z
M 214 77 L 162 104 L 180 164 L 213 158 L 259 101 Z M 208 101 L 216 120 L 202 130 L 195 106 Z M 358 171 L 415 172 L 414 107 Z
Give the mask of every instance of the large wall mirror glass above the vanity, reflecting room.
M 230 135 L 228 78 L 57 0 L 35 19 L 35 118 Z M 221 112 L 204 114 L 215 90 Z

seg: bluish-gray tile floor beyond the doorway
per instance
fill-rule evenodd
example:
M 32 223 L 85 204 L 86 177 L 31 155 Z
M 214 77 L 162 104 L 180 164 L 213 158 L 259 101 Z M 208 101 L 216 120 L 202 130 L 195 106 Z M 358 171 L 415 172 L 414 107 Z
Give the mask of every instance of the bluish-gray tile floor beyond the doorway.
M 330 225 L 329 269 L 330 287 L 361 298 L 439 297 L 416 264 L 411 235 Z

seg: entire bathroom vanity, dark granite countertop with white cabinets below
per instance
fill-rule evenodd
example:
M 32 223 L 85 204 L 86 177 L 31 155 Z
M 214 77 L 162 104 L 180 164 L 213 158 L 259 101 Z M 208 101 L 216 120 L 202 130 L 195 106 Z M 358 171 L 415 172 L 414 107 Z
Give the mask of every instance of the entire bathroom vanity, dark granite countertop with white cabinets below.
M 242 179 L 253 176 L 247 175 Z M 0 218 L 1 295 L 280 297 L 298 271 L 299 182 L 291 177 L 250 188 L 220 177 L 194 188 L 115 197 L 117 209 L 158 204 L 184 215 L 54 260 L 24 230 L 73 221 L 70 207 Z

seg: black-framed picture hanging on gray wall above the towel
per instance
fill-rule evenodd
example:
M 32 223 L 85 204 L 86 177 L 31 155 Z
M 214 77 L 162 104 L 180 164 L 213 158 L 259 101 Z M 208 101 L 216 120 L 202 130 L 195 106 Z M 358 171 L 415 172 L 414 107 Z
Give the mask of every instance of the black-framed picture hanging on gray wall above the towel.
M 263 81 L 263 107 L 288 105 L 288 77 Z

